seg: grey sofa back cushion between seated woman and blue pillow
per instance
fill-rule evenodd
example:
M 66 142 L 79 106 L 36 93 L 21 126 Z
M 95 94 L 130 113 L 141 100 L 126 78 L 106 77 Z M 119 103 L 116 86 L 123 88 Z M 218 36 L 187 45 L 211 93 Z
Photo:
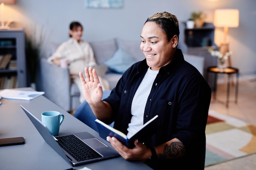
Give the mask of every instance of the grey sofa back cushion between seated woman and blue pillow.
M 102 65 L 112 57 L 117 50 L 115 39 L 89 42 L 94 52 L 94 57 L 97 64 Z

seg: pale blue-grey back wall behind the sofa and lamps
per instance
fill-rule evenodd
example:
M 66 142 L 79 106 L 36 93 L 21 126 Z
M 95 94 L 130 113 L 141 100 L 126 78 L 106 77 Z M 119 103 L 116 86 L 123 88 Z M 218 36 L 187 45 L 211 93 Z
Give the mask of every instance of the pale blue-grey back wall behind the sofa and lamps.
M 36 23 L 43 28 L 47 42 L 61 43 L 68 39 L 70 22 L 83 24 L 86 41 L 123 38 L 140 41 L 141 28 L 153 13 L 168 11 L 180 21 L 189 18 L 192 11 L 207 13 L 207 22 L 213 22 L 213 11 L 234 8 L 240 11 L 238 28 L 230 28 L 228 39 L 232 65 L 241 74 L 256 73 L 256 0 L 123 0 L 121 9 L 88 9 L 85 0 L 16 0 L 5 5 L 5 20 L 22 22 L 25 27 Z M 216 28 L 216 44 L 223 31 Z

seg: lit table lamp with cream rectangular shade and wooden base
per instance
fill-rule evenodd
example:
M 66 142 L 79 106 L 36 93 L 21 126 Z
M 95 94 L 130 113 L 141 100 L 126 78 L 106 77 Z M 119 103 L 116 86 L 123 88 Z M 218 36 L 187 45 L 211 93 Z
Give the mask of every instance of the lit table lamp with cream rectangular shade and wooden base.
M 238 27 L 239 25 L 239 11 L 238 9 L 216 9 L 214 11 L 214 22 L 216 27 L 224 27 L 224 40 L 220 45 L 220 53 L 225 55 L 229 51 L 229 42 L 227 40 L 227 33 L 229 27 Z M 229 66 L 231 60 L 229 57 Z

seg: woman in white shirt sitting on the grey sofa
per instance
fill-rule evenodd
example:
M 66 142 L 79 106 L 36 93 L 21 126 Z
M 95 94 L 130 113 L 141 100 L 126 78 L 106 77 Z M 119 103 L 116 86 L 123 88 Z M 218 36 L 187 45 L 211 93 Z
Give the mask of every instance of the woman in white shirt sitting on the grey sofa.
M 94 58 L 92 47 L 88 42 L 81 40 L 83 35 L 83 26 L 79 22 L 71 22 L 70 24 L 70 39 L 63 42 L 58 49 L 48 58 L 48 62 L 61 66 L 67 65 L 70 71 L 72 80 L 76 83 L 80 91 L 80 102 L 83 97 L 82 84 L 79 78 L 79 72 L 83 71 L 85 66 L 96 66 L 97 63 Z M 109 90 L 108 81 L 103 77 L 99 77 L 104 90 Z

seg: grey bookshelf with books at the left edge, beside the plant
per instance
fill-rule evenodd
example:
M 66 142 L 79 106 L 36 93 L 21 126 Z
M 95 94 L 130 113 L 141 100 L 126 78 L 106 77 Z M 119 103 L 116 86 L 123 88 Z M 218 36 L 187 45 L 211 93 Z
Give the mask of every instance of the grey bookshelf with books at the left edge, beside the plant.
M 0 30 L 0 89 L 20 87 L 27 87 L 24 30 Z

